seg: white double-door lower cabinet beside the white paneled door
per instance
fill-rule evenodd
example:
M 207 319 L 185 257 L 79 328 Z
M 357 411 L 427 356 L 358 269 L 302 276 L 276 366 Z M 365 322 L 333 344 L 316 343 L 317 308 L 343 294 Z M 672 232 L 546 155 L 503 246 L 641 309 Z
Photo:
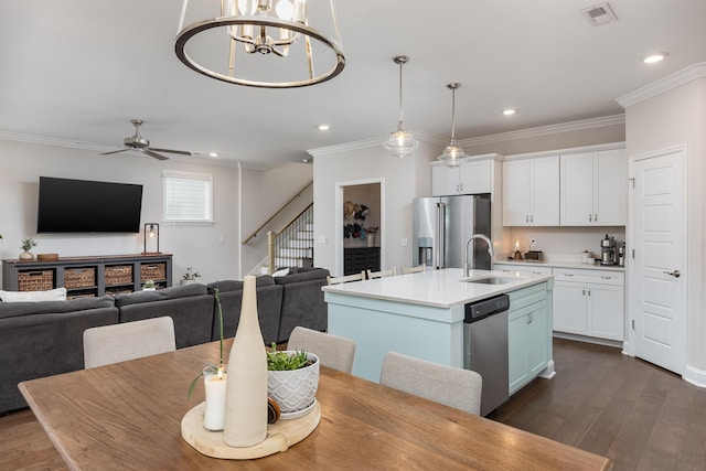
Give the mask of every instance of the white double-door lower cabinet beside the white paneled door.
M 555 268 L 554 330 L 622 341 L 624 274 Z

